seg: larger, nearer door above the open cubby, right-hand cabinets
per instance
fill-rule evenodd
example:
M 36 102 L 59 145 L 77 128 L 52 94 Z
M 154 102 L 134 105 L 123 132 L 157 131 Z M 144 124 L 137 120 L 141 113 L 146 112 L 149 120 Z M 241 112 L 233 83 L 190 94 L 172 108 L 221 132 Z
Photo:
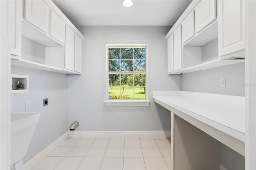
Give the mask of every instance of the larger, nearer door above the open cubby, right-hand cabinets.
M 201 0 L 195 7 L 195 29 L 199 32 L 216 19 L 216 0 Z

